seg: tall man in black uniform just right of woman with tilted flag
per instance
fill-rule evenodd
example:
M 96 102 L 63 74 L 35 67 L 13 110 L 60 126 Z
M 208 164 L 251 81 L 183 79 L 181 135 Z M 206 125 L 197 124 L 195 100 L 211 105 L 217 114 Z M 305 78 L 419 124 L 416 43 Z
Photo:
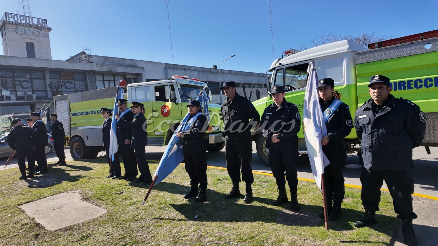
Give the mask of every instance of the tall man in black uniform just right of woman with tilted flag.
M 251 203 L 251 184 L 254 183 L 250 164 L 252 158 L 251 128 L 256 127 L 260 121 L 260 115 L 248 99 L 237 94 L 234 81 L 223 83 L 219 89 L 224 90 L 226 95 L 221 107 L 225 125 L 223 136 L 226 141 L 226 169 L 233 181 L 233 188 L 225 197 L 230 199 L 240 195 L 241 170 L 242 180 L 246 183 L 244 202 Z

